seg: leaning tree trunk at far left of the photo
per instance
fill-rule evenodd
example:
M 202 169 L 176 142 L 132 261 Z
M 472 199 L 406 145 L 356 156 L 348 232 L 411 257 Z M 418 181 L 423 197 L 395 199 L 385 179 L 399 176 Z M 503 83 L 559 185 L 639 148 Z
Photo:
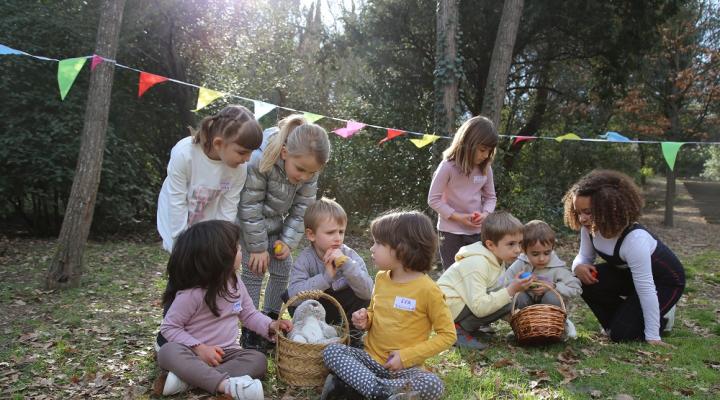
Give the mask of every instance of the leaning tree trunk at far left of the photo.
M 115 59 L 124 7 L 125 0 L 103 2 L 95 54 L 111 60 Z M 80 284 L 83 251 L 90 233 L 95 198 L 100 184 L 114 73 L 115 65 L 103 62 L 90 74 L 80 154 L 60 229 L 57 250 L 45 279 L 45 286 L 48 289 L 75 287 Z

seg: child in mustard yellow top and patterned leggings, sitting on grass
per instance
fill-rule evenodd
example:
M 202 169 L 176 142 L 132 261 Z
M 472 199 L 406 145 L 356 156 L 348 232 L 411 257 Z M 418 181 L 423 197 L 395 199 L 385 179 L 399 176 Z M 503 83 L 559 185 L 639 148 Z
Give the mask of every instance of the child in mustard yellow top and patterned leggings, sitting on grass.
M 455 329 L 442 291 L 426 274 L 437 250 L 435 229 L 426 215 L 400 211 L 375 219 L 370 230 L 380 272 L 369 308 L 352 315 L 353 325 L 368 331 L 365 351 L 341 344 L 325 348 L 332 374 L 320 398 L 387 399 L 414 391 L 425 400 L 439 399 L 443 382 L 422 365 L 455 342 Z

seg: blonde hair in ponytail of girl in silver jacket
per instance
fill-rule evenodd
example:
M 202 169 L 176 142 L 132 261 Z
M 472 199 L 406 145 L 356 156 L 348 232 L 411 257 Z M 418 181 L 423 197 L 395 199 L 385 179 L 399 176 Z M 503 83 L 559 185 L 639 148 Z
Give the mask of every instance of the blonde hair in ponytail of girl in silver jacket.
M 330 159 L 330 141 L 325 129 L 308 123 L 300 114 L 285 117 L 278 124 L 276 133 L 263 151 L 260 172 L 267 173 L 280 158 L 283 146 L 291 156 L 313 155 L 321 166 Z

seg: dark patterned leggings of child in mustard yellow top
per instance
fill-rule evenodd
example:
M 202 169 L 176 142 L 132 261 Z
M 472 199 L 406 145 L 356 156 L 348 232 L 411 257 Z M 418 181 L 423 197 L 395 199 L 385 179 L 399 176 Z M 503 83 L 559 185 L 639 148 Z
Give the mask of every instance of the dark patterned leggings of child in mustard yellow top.
M 325 365 L 343 382 L 370 399 L 381 399 L 396 391 L 414 390 L 423 400 L 439 399 L 445 389 L 436 375 L 412 367 L 391 372 L 364 350 L 343 344 L 328 345 Z

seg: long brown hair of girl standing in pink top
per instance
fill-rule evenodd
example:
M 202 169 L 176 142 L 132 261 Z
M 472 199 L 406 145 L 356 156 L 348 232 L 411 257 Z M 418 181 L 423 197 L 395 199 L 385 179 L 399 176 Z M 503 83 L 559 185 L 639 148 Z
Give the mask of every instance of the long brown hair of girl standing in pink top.
M 495 124 L 488 118 L 478 115 L 460 126 L 450 147 L 443 151 L 443 158 L 455 161 L 455 165 L 469 176 L 475 168 L 475 151 L 478 146 L 487 146 L 490 148 L 490 154 L 480 164 L 480 171 L 483 175 L 487 175 L 487 168 L 495 158 L 498 140 Z

